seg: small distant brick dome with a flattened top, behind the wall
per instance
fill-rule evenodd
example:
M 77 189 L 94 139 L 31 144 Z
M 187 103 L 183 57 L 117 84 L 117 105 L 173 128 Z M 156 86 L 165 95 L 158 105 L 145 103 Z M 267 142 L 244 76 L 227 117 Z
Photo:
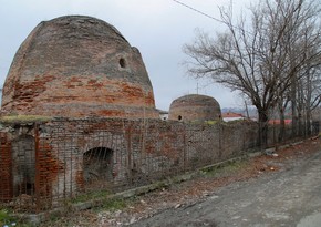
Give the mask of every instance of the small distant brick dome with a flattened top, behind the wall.
M 189 94 L 174 100 L 169 107 L 169 120 L 215 121 L 221 117 L 219 103 L 210 96 Z

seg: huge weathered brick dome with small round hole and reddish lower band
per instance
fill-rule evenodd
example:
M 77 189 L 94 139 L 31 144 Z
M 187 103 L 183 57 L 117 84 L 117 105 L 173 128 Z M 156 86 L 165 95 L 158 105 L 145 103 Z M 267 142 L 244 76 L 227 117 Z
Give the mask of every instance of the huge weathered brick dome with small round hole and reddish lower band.
M 33 29 L 9 70 L 2 111 L 158 118 L 139 51 L 111 24 L 84 16 L 56 18 Z

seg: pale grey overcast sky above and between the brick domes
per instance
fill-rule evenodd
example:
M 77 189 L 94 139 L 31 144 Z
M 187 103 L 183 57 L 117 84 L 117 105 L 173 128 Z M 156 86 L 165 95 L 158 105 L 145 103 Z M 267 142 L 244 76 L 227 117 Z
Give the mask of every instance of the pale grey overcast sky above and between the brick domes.
M 219 19 L 218 6 L 230 0 L 179 0 Z M 251 0 L 235 0 L 239 13 Z M 195 29 L 215 33 L 219 22 L 197 13 L 174 0 L 0 0 L 0 86 L 12 59 L 31 30 L 41 21 L 66 14 L 102 19 L 139 49 L 149 74 L 156 107 L 168 110 L 170 102 L 197 92 L 197 81 L 186 75 L 182 48 L 195 39 Z M 229 90 L 198 81 L 198 93 L 215 97 L 221 107 L 242 107 L 242 100 Z

